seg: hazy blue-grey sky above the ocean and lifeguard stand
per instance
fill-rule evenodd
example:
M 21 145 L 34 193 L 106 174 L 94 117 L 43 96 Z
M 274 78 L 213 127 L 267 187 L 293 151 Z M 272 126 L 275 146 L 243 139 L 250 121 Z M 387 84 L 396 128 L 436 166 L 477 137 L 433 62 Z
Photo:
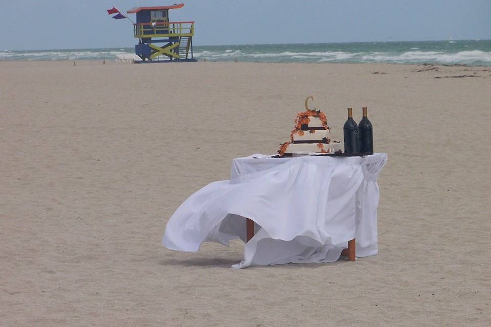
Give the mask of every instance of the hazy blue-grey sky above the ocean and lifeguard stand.
M 196 21 L 194 45 L 491 39 L 491 0 L 182 1 L 170 20 Z M 0 50 L 132 47 L 106 9 L 174 2 L 0 0 Z

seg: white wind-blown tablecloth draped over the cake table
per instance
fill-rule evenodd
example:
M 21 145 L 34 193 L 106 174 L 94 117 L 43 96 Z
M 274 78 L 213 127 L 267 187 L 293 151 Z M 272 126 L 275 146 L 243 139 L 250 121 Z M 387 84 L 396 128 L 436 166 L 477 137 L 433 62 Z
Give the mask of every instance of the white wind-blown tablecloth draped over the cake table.
M 195 252 L 203 242 L 246 242 L 234 268 L 337 261 L 356 237 L 356 255 L 378 253 L 377 177 L 386 153 L 365 157 L 261 154 L 233 160 L 231 179 L 191 195 L 167 223 L 162 244 Z

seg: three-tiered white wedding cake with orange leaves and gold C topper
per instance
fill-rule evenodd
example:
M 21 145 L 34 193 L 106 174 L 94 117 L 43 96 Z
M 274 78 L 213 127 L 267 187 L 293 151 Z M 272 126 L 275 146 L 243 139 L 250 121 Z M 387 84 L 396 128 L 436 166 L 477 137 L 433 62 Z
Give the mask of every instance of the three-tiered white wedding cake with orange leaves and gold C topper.
M 295 119 L 295 129 L 292 131 L 290 141 L 280 145 L 278 153 L 308 154 L 308 153 L 334 153 L 339 146 L 331 144 L 331 129 L 327 125 L 326 115 L 316 109 L 309 109 L 305 99 L 304 112 L 299 112 Z

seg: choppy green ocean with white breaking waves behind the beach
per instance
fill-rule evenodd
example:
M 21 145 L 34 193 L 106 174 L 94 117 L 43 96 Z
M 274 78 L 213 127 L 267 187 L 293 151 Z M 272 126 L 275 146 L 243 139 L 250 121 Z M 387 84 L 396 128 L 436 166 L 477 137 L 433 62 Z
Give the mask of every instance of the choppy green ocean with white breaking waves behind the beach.
M 117 60 L 133 48 L 0 51 L 1 60 Z M 491 40 L 194 46 L 194 57 L 246 62 L 384 62 L 491 65 Z

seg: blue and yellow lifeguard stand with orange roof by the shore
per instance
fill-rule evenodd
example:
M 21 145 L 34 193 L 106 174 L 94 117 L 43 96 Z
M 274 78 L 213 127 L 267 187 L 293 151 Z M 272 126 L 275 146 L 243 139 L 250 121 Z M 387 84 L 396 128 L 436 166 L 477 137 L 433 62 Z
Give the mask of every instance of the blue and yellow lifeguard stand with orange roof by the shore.
M 178 9 L 184 4 L 158 7 L 138 7 L 127 11 L 137 14 L 133 24 L 135 53 L 145 61 L 196 61 L 193 58 L 194 21 L 169 21 L 169 9 Z M 157 43 L 164 43 L 157 45 Z M 168 60 L 167 60 L 168 58 Z

